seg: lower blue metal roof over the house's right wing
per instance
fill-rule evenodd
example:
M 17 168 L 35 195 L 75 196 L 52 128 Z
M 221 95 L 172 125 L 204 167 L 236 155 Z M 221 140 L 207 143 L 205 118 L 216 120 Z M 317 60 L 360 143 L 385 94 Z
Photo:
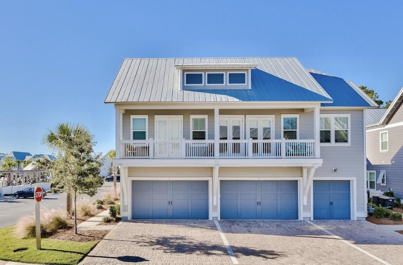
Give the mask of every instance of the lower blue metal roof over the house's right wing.
M 343 78 L 315 73 L 311 73 L 311 75 L 333 98 L 333 103 L 321 103 L 321 106 L 371 107 L 364 97 L 358 94 Z

